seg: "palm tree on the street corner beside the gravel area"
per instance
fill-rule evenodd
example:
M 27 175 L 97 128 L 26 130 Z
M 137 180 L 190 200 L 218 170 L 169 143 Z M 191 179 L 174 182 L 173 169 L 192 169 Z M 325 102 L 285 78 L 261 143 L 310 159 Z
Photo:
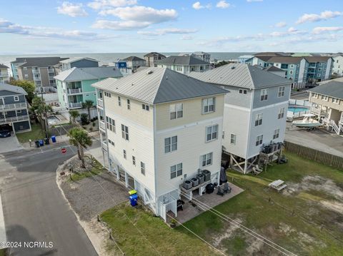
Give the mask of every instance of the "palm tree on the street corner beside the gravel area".
M 79 156 L 79 160 L 81 160 L 81 167 L 86 168 L 86 165 L 84 165 L 84 148 L 91 146 L 93 143 L 91 137 L 86 130 L 81 128 L 71 128 L 68 136 L 70 137 L 69 143 L 77 148 L 77 155 Z

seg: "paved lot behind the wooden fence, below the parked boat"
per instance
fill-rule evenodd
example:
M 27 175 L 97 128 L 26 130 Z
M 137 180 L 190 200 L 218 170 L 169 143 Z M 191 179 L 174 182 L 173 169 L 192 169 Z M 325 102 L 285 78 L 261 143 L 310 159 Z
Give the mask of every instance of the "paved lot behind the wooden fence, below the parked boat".
M 292 123 L 287 123 L 284 140 L 343 157 L 342 136 L 337 135 L 336 133 L 329 133 L 322 128 L 317 130 L 306 130 L 291 126 Z

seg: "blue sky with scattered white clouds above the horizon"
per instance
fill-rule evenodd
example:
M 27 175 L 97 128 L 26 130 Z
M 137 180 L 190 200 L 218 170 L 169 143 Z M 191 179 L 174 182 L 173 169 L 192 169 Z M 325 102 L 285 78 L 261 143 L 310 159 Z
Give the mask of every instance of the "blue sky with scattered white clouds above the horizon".
M 341 0 L 1 0 L 0 54 L 342 52 Z

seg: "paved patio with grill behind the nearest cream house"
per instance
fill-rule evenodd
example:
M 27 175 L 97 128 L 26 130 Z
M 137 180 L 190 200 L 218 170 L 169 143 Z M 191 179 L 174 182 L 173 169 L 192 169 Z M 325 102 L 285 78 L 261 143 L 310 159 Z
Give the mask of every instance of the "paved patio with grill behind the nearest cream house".
M 192 218 L 206 211 L 202 203 L 204 203 L 204 205 L 207 205 L 207 207 L 205 206 L 205 208 L 214 208 L 214 206 L 220 205 L 221 203 L 226 202 L 230 198 L 233 198 L 234 196 L 244 191 L 242 188 L 239 188 L 237 187 L 237 185 L 234 185 L 232 183 L 229 183 L 229 186 L 231 188 L 231 193 L 224 194 L 223 196 L 217 195 L 217 188 L 214 190 L 213 193 L 204 195 L 199 195 L 199 193 L 197 193 L 197 190 L 195 190 L 193 193 L 193 198 L 195 200 L 192 200 L 192 203 L 195 204 L 195 206 L 192 205 L 189 200 L 182 196 L 182 200 L 184 200 L 185 202 L 184 210 L 180 210 L 179 212 L 177 212 L 177 220 L 181 223 L 192 220 Z

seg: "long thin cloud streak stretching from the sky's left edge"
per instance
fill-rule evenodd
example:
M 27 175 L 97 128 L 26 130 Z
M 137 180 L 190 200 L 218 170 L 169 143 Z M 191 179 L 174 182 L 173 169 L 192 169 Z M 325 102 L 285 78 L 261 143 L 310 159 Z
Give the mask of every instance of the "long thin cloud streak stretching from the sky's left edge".
M 19 24 L 14 24 L 11 21 L 0 19 L 0 34 L 18 34 L 23 36 L 32 36 L 40 38 L 55 38 L 55 39 L 70 39 L 70 40 L 79 40 L 79 39 L 108 39 L 110 36 L 103 36 L 96 34 L 94 32 L 88 31 L 79 31 L 71 30 L 64 31 L 56 28 L 46 28 L 39 26 L 21 26 Z

